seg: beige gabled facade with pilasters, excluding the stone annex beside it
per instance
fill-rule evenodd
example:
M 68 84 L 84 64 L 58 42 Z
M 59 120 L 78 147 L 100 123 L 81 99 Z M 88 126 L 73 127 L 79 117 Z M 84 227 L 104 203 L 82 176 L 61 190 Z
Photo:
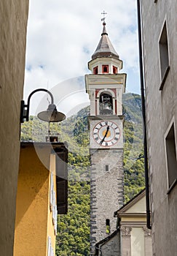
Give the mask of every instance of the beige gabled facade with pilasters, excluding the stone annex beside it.
M 152 256 L 152 234 L 146 228 L 145 202 L 143 191 L 117 211 L 121 219 L 122 256 Z

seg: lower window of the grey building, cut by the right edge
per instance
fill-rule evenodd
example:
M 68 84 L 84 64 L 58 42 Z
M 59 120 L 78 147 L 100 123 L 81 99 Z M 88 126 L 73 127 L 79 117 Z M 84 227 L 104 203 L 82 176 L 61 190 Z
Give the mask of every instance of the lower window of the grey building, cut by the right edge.
M 176 161 L 176 143 L 174 124 L 170 127 L 167 137 L 165 138 L 166 155 L 168 165 L 168 187 L 172 189 L 177 179 L 177 161 Z

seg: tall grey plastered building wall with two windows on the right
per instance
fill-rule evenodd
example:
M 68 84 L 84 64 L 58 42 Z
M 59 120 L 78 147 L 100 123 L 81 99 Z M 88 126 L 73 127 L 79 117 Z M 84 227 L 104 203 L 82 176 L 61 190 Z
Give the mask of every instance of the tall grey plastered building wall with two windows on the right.
M 176 13 L 174 0 L 141 0 L 154 256 L 177 255 Z

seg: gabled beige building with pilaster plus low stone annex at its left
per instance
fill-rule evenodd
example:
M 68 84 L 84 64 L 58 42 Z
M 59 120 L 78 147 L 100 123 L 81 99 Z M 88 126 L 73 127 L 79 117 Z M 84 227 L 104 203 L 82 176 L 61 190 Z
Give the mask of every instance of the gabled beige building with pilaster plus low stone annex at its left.
M 152 256 L 152 233 L 146 228 L 145 190 L 114 212 L 117 230 L 96 244 L 96 255 Z

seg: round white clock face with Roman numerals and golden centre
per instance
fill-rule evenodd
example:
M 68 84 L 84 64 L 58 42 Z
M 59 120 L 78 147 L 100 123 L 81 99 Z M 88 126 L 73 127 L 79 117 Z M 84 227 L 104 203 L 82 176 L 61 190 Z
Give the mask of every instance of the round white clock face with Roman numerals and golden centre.
M 100 146 L 114 146 L 120 138 L 119 127 L 112 121 L 100 121 L 93 128 L 93 138 Z

